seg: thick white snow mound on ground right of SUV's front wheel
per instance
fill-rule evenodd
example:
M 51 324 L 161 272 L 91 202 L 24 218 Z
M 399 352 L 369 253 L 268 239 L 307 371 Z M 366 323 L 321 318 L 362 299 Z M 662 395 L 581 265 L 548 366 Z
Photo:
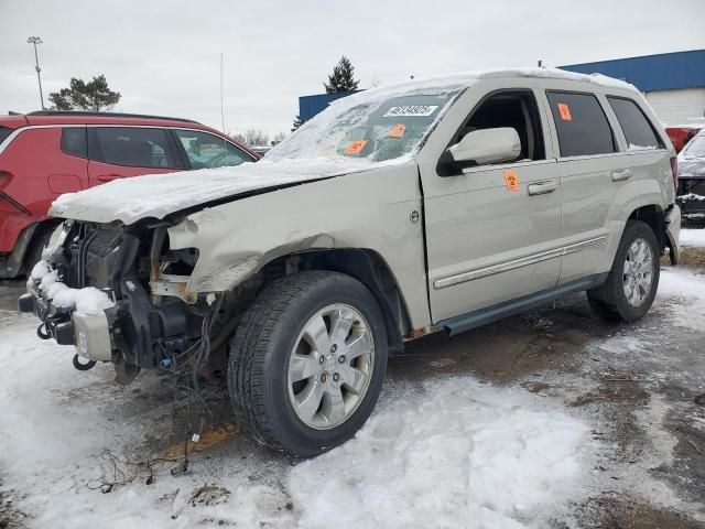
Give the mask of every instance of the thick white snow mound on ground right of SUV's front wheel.
M 409 392 L 352 441 L 294 468 L 300 527 L 545 527 L 581 495 L 593 443 L 581 421 L 468 377 Z

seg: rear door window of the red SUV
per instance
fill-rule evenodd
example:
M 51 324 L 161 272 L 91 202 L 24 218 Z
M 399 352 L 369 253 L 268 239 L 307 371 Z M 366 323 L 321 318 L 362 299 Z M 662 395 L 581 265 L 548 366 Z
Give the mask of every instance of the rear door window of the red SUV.
M 95 127 L 88 132 L 90 159 L 134 168 L 182 169 L 164 129 Z

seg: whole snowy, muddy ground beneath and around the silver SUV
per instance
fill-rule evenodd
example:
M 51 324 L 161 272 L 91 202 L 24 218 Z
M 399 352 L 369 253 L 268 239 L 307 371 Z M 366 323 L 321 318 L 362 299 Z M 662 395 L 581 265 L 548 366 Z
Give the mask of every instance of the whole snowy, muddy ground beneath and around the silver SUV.
M 705 246 L 690 231 L 684 245 Z M 664 269 L 630 326 L 576 298 L 431 337 L 390 364 L 354 440 L 303 463 L 254 444 L 215 398 L 221 422 L 176 476 L 184 407 L 169 378 L 78 373 L 33 317 L 0 311 L 0 527 L 697 527 L 704 272 Z M 605 521 L 623 505 L 643 523 Z

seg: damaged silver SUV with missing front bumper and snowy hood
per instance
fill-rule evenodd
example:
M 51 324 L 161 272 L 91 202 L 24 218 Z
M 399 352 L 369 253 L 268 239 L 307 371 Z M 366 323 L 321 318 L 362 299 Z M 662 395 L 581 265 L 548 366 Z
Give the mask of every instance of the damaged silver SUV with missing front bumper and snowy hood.
M 679 258 L 675 170 L 642 96 L 615 79 L 384 86 L 257 164 L 59 197 L 66 222 L 20 306 L 121 384 L 223 355 L 239 423 L 311 456 L 365 423 L 409 339 L 577 291 L 600 316 L 643 316 L 659 258 Z

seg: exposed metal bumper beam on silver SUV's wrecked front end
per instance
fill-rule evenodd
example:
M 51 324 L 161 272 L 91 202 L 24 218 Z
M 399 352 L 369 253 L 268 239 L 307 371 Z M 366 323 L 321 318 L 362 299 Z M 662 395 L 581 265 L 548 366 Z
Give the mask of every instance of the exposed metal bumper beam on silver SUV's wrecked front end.
M 110 323 L 105 311 L 79 314 L 73 309 L 54 306 L 40 294 L 28 292 L 18 300 L 20 312 L 32 312 L 42 324 L 37 335 L 54 338 L 59 345 L 74 345 L 78 356 L 94 361 L 111 361 Z

